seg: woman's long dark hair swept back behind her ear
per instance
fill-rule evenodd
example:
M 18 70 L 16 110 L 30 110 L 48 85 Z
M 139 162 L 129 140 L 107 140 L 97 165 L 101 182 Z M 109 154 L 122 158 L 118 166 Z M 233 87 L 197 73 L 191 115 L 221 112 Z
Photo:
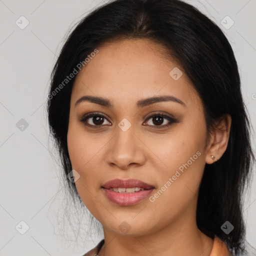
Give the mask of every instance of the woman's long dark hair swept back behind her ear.
M 233 254 L 246 252 L 242 200 L 255 158 L 237 63 L 221 29 L 183 1 L 113 0 L 94 9 L 69 34 L 52 70 L 47 99 L 49 128 L 65 175 L 72 169 L 66 137 L 75 75 L 67 84 L 63 81 L 102 43 L 129 38 L 161 44 L 167 50 L 166 57 L 179 63 L 202 99 L 208 134 L 222 114 L 231 115 L 224 154 L 214 164 L 205 165 L 196 222 L 204 233 L 225 241 Z M 70 192 L 79 196 L 75 184 L 67 184 Z M 234 226 L 229 234 L 221 229 L 225 221 Z

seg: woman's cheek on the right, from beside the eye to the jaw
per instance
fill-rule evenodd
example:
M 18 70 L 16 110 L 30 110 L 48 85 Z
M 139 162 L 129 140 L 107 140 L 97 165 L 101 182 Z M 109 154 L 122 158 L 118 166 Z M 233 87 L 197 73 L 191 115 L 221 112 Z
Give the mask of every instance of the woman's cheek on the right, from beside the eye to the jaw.
M 154 146 L 154 153 L 162 162 L 162 167 L 155 167 L 160 187 L 152 198 L 159 207 L 180 209 L 197 193 L 205 166 L 206 127 L 202 119 L 194 120 L 186 119 Z

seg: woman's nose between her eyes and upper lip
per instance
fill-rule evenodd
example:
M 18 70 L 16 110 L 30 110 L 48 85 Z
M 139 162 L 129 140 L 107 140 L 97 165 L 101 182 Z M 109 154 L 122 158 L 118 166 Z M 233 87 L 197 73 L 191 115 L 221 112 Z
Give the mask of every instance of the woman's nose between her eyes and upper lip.
M 109 165 L 125 170 L 145 162 L 145 145 L 139 135 L 134 133 L 132 126 L 126 131 L 117 127 L 116 134 L 107 146 L 105 159 Z

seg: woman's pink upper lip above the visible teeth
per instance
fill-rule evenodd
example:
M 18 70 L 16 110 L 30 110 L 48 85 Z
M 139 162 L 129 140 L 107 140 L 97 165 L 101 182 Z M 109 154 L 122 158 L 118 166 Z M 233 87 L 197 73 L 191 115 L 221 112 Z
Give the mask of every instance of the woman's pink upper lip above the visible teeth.
M 129 188 L 129 187 L 141 187 L 144 189 L 150 189 L 154 188 L 153 185 L 150 185 L 148 183 L 143 182 L 142 180 L 139 179 L 112 179 L 107 182 L 105 182 L 102 187 L 104 188 L 111 188 L 111 187 L 123 187 L 123 188 Z

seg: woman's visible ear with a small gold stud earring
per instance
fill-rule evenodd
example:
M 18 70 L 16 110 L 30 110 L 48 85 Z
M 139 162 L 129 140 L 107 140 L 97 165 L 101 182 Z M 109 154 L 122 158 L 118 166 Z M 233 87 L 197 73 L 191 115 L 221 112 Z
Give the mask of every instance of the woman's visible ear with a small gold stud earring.
M 225 152 L 228 144 L 230 127 L 231 116 L 229 114 L 223 114 L 215 124 L 214 131 L 210 134 L 210 142 L 208 143 L 205 154 L 206 163 L 211 164 L 217 161 Z M 211 155 L 214 155 L 215 158 L 212 159 L 210 157 Z

